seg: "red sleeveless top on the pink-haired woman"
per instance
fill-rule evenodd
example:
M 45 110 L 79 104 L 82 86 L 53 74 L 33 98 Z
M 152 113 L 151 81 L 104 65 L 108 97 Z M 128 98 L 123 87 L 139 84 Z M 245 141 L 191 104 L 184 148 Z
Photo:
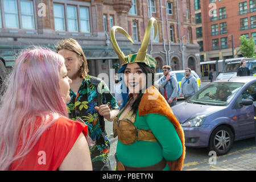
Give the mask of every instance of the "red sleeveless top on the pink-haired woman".
M 87 134 L 87 125 L 60 117 L 43 132 L 32 150 L 11 164 L 10 170 L 55 171 L 81 134 Z M 22 161 L 22 163 L 20 163 Z

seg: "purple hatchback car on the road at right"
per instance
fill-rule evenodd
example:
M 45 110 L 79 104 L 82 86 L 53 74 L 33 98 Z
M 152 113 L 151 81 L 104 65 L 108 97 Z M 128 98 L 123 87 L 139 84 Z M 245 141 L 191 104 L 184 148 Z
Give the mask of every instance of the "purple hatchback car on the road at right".
M 185 146 L 226 154 L 235 140 L 255 136 L 256 77 L 211 82 L 172 110 L 184 130 Z

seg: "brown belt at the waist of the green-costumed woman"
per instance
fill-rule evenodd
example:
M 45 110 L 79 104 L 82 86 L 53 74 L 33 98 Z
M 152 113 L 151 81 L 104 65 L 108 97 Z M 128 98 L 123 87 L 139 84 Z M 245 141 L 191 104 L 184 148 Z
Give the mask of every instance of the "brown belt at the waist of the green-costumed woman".
M 146 166 L 146 167 L 125 166 L 117 160 L 116 155 L 115 155 L 115 160 L 117 161 L 118 171 L 162 171 L 166 167 L 166 160 L 164 158 L 159 163 L 156 163 L 152 166 Z

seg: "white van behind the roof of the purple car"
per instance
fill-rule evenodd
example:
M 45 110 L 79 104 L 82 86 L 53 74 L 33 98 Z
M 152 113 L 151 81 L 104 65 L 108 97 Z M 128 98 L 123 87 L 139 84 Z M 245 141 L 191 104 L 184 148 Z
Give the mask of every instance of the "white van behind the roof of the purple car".
M 240 67 L 241 60 L 246 60 L 246 67 L 250 70 L 251 76 L 256 76 L 256 59 L 255 58 L 236 58 L 225 60 L 226 65 L 222 69 L 222 72 L 218 74 L 216 80 L 222 80 L 224 78 L 237 77 L 237 70 Z

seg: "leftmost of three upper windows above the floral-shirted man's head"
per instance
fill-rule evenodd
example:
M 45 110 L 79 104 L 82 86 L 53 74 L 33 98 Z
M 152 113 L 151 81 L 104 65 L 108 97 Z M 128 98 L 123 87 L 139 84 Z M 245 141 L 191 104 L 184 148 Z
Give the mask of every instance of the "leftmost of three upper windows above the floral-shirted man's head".
M 65 31 L 64 6 L 53 4 L 53 16 L 56 31 Z

